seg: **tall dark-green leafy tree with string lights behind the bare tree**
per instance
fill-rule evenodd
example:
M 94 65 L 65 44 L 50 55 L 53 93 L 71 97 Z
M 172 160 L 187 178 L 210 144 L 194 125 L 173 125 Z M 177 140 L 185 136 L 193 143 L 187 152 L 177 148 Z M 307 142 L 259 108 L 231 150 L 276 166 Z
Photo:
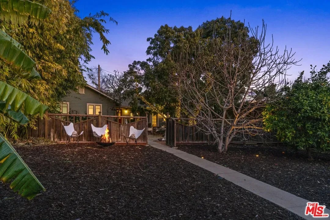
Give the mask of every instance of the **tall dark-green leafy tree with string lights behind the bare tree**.
M 228 34 L 228 26 L 231 26 L 230 36 L 233 43 L 238 44 L 240 40 L 248 38 L 249 30 L 243 22 L 223 16 L 203 22 L 196 30 L 191 26 L 162 25 L 154 37 L 147 39 L 150 44 L 146 51 L 150 56 L 147 61 L 150 65 L 147 71 L 144 71 L 143 78 L 143 86 L 147 88 L 143 96 L 147 101 L 153 105 L 164 105 L 163 113 L 170 112 L 177 117 L 180 117 L 181 113 L 189 114 L 184 109 L 182 112 L 179 94 L 172 87 L 176 82 L 172 81 L 171 76 L 178 72 L 175 59 L 185 53 L 186 57 L 190 57 L 189 62 L 193 62 L 198 56 L 196 54 L 196 45 L 198 45 L 203 47 L 205 52 L 208 51 L 205 54 L 208 59 L 205 60 L 205 64 L 214 65 L 214 54 L 209 51 L 211 39 L 224 41 Z M 252 44 L 253 39 L 250 40 Z M 254 47 L 256 48 L 256 45 Z

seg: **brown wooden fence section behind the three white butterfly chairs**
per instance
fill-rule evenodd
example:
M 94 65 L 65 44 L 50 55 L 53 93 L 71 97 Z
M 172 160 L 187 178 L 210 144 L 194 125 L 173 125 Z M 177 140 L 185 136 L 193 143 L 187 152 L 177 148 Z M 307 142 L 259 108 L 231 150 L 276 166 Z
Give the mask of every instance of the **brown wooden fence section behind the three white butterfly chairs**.
M 121 118 L 121 121 L 124 121 L 126 118 L 131 119 L 128 121 L 132 121 L 133 119 L 134 122 L 121 124 L 117 122 L 119 118 Z M 98 141 L 98 139 L 93 136 L 91 124 L 95 127 L 103 127 L 107 124 L 111 140 L 118 143 L 125 142 L 122 133 L 128 136 L 130 126 L 134 126 L 134 128 L 138 130 L 145 128 L 145 131 L 138 138 L 138 143 L 148 144 L 147 117 L 46 113 L 46 117 L 37 119 L 37 129 L 28 129 L 28 135 L 29 137 L 40 137 L 51 141 L 66 141 L 66 134 L 61 122 L 64 125 L 73 122 L 73 126 L 78 134 L 83 131 L 79 141 L 86 142 Z

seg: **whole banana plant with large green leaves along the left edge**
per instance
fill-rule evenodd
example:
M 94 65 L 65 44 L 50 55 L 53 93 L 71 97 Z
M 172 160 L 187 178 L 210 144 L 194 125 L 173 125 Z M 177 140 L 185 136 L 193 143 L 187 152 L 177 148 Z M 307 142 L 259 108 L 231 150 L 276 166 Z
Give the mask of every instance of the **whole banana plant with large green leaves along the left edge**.
M 0 20 L 13 24 L 32 22 L 38 24 L 51 11 L 36 2 L 27 0 L 0 0 Z M 40 78 L 35 62 L 24 52 L 22 45 L 0 30 L 0 59 L 11 66 L 21 78 Z M 0 114 L 20 124 L 26 124 L 25 115 L 43 116 L 47 106 L 19 89 L 0 81 Z M 15 148 L 0 134 L 0 180 L 11 182 L 10 188 L 19 195 L 33 199 L 44 186 L 18 155 Z

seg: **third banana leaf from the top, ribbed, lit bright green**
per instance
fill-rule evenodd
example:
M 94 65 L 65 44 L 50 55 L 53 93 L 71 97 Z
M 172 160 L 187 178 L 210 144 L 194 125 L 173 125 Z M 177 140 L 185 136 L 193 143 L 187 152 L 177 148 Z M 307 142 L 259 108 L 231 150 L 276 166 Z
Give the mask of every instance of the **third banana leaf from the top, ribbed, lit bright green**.
M 39 113 L 40 117 L 42 117 L 48 109 L 47 106 L 41 104 L 38 100 L 2 81 L 0 81 L 0 101 L 6 103 L 6 108 L 11 105 L 14 111 L 20 110 L 24 104 L 25 115 L 36 115 Z

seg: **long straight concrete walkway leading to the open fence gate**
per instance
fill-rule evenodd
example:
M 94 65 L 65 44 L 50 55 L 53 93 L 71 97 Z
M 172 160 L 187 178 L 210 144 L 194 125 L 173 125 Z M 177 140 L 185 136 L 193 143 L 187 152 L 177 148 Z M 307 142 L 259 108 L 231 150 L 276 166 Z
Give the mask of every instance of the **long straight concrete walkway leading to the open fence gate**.
M 275 203 L 275 204 L 299 215 L 300 217 L 302 217 L 304 219 L 330 220 L 330 217 L 315 218 L 315 217 L 312 217 L 311 215 L 305 215 L 306 204 L 307 204 L 307 202 L 310 202 L 308 200 L 295 196 L 291 193 L 285 192 L 285 191 L 278 189 L 274 186 L 271 186 L 267 183 L 253 179 L 247 175 L 244 175 L 243 173 L 239 173 L 237 171 L 223 167 L 223 166 L 213 163 L 211 161 L 199 158 L 195 155 L 188 154 L 181 150 L 177 150 L 175 148 L 168 147 L 159 142 L 153 141 L 152 139 L 148 140 L 148 144 L 157 149 L 161 149 L 168 153 L 174 154 L 175 156 L 180 157 L 183 160 L 186 160 L 201 168 L 204 168 L 205 170 L 215 173 L 216 175 L 221 176 L 221 177 L 225 178 L 226 180 L 233 182 L 234 184 L 236 184 L 266 200 L 269 200 L 272 203 Z M 316 201 L 312 201 L 312 202 L 316 202 Z M 324 213 L 330 215 L 330 210 L 326 208 Z

